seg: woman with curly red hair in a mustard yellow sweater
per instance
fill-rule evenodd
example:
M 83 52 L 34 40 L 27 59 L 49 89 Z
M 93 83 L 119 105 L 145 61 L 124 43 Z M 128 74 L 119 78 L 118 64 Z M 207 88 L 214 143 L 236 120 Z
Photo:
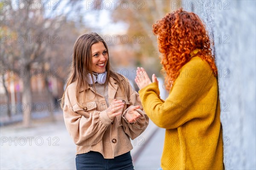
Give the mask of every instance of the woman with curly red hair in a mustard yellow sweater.
M 169 96 L 160 99 L 152 82 L 138 68 L 135 82 L 148 117 L 166 129 L 163 170 L 222 170 L 223 140 L 217 68 L 204 24 L 179 9 L 153 25 Z

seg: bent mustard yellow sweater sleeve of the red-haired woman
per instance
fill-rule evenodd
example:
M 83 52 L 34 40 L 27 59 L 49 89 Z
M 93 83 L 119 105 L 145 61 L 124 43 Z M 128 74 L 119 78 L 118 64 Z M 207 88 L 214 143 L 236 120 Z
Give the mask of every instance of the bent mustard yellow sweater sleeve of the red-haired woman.
M 174 129 L 191 119 L 200 118 L 200 112 L 188 114 L 188 108 L 202 97 L 201 91 L 213 72 L 201 58 L 194 58 L 182 67 L 165 101 L 160 99 L 157 83 L 139 91 L 145 112 L 157 126 Z

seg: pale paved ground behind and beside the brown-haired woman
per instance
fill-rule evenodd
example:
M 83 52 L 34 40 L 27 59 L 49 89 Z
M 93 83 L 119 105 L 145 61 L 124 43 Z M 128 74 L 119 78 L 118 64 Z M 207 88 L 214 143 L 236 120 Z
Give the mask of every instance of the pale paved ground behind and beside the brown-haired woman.
M 131 151 L 134 164 L 140 162 L 140 156 L 143 156 L 141 153 L 148 148 L 149 141 L 154 139 L 155 135 L 153 138 L 152 135 L 157 133 L 157 129 L 158 127 L 150 122 L 145 132 L 131 141 L 134 145 Z M 23 128 L 20 124 L 2 126 L 0 138 L 1 170 L 76 169 L 76 145 L 67 132 L 62 115 L 58 116 L 56 122 L 35 123 L 31 128 Z M 148 163 L 144 161 L 143 164 Z

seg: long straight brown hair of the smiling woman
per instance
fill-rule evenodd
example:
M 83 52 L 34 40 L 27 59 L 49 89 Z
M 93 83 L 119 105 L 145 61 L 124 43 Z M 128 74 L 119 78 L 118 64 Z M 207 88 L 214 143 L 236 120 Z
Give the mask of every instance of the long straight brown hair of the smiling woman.
M 92 63 L 92 55 L 91 55 L 91 46 L 97 42 L 102 42 L 105 45 L 108 53 L 108 46 L 106 42 L 100 37 L 97 33 L 87 33 L 81 35 L 75 42 L 74 51 L 73 51 L 73 59 L 71 64 L 71 71 L 67 78 L 67 85 L 64 91 L 64 94 L 61 98 L 61 108 L 64 106 L 64 98 L 65 92 L 67 91 L 68 85 L 73 82 L 76 82 L 76 98 L 78 97 L 79 90 L 81 87 L 88 85 L 87 75 L 92 74 L 91 63 Z M 122 75 L 115 73 L 109 64 L 109 59 L 106 64 L 107 71 L 107 80 L 105 83 L 108 83 L 109 77 L 112 77 L 116 80 L 116 83 L 119 85 L 119 88 L 122 92 L 125 91 L 125 79 Z M 93 83 L 94 87 L 95 84 Z

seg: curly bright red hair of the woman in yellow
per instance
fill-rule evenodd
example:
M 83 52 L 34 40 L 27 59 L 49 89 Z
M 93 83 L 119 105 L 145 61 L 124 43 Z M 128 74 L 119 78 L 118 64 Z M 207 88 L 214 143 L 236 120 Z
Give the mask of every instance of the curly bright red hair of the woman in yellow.
M 162 71 L 167 74 L 167 90 L 172 88 L 181 67 L 193 57 L 190 53 L 195 49 L 198 49 L 196 56 L 207 61 L 217 76 L 209 36 L 198 15 L 180 8 L 157 21 L 153 25 L 153 32 L 158 37 L 158 48 L 162 54 Z

